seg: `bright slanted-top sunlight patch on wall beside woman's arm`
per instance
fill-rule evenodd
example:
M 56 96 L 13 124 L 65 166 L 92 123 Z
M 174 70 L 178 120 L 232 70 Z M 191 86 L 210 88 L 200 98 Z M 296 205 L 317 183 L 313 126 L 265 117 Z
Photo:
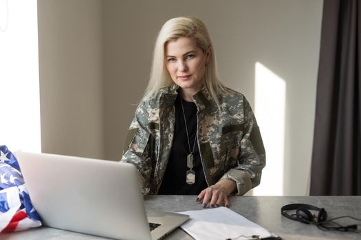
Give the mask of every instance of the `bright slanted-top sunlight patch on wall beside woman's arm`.
M 283 195 L 286 83 L 260 62 L 255 71 L 254 113 L 265 145 L 266 167 L 253 195 Z

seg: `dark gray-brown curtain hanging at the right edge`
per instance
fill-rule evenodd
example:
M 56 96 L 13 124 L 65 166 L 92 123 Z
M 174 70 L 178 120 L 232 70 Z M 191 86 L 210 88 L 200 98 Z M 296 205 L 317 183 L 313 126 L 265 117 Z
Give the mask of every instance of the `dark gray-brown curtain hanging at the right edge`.
M 359 0 L 324 0 L 310 195 L 361 195 Z

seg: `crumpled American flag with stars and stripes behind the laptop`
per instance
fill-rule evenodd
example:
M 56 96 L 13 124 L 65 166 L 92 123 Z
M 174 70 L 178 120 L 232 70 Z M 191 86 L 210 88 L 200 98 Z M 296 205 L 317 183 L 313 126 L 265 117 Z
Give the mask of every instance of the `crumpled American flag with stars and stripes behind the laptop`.
M 0 145 L 0 233 L 41 226 L 30 201 L 17 158 Z

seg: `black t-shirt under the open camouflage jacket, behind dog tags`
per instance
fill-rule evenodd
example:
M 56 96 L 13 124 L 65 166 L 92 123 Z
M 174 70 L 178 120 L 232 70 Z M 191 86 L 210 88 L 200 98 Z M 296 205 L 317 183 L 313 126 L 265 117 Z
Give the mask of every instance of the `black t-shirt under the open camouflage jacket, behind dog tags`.
M 193 145 L 197 139 L 197 106 L 194 102 L 184 101 L 184 114 L 186 115 L 186 122 L 188 127 L 190 151 L 193 150 Z M 163 182 L 160 186 L 158 194 L 160 195 L 198 195 L 202 190 L 208 187 L 206 178 L 204 178 L 204 171 L 201 165 L 201 158 L 199 156 L 199 148 L 197 142 L 193 157 L 195 158 L 195 183 L 186 183 L 187 156 L 190 154 L 188 147 L 188 139 L 186 134 L 186 125 L 184 123 L 184 116 L 182 111 L 181 97 L 177 95 L 175 99 L 175 130 L 173 137 L 173 145 L 171 155 L 169 156 L 166 173 L 164 173 Z

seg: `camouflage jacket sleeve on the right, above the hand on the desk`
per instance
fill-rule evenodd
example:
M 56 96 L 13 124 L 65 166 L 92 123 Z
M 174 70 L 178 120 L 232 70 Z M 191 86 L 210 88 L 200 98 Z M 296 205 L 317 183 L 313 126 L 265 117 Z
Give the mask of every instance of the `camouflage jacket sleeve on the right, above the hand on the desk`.
M 221 179 L 232 179 L 237 183 L 236 195 L 243 195 L 259 185 L 265 167 L 265 148 L 256 118 L 247 99 L 243 97 L 243 136 L 238 166 L 228 170 Z

